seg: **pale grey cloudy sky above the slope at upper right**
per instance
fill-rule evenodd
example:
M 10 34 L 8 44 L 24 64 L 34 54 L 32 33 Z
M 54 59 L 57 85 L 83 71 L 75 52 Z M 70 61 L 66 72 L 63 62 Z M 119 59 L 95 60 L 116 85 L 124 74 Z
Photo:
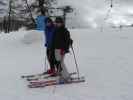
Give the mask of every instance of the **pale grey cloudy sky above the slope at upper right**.
M 61 5 L 69 4 L 76 8 L 79 17 L 94 27 L 103 21 L 110 24 L 129 25 L 133 23 L 133 0 L 58 0 Z M 109 12 L 109 13 L 108 13 Z M 106 19 L 106 20 L 104 20 Z

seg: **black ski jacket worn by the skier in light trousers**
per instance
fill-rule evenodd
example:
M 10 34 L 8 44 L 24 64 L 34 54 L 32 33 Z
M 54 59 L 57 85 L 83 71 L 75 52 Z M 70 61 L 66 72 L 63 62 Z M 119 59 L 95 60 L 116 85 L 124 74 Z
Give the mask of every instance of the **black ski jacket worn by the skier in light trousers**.
M 55 29 L 53 48 L 63 49 L 69 52 L 69 47 L 72 44 L 72 39 L 70 38 L 70 32 L 63 26 Z

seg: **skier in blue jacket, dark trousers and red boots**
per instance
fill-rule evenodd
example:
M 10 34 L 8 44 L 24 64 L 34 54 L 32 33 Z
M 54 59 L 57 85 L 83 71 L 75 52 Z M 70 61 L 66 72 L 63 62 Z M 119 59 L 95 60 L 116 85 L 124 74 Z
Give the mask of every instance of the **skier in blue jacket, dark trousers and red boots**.
M 52 48 L 53 37 L 55 33 L 55 26 L 51 18 L 46 18 L 45 20 L 45 46 L 46 46 L 46 54 L 47 59 L 49 61 L 50 69 L 47 70 L 48 74 L 54 75 L 56 74 L 55 69 L 55 56 L 54 56 L 54 49 Z

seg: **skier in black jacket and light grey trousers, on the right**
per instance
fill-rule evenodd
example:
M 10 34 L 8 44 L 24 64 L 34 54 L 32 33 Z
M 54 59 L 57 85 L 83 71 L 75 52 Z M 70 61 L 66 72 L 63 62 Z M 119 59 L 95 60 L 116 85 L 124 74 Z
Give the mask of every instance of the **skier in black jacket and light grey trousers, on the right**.
M 64 25 L 64 20 L 57 17 L 55 20 L 55 34 L 53 39 L 53 48 L 55 53 L 56 68 L 64 81 L 70 79 L 70 74 L 64 64 L 65 54 L 69 52 L 69 46 L 72 45 L 70 33 Z

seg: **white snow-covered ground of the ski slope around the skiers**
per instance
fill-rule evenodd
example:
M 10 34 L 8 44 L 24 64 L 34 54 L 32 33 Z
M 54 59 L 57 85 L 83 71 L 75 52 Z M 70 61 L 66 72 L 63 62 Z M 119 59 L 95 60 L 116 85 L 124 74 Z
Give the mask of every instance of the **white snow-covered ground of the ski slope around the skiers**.
M 0 100 L 133 100 L 133 29 L 71 30 L 85 83 L 29 89 L 20 78 L 45 66 L 43 32 L 0 34 Z M 66 56 L 76 70 L 72 53 Z

